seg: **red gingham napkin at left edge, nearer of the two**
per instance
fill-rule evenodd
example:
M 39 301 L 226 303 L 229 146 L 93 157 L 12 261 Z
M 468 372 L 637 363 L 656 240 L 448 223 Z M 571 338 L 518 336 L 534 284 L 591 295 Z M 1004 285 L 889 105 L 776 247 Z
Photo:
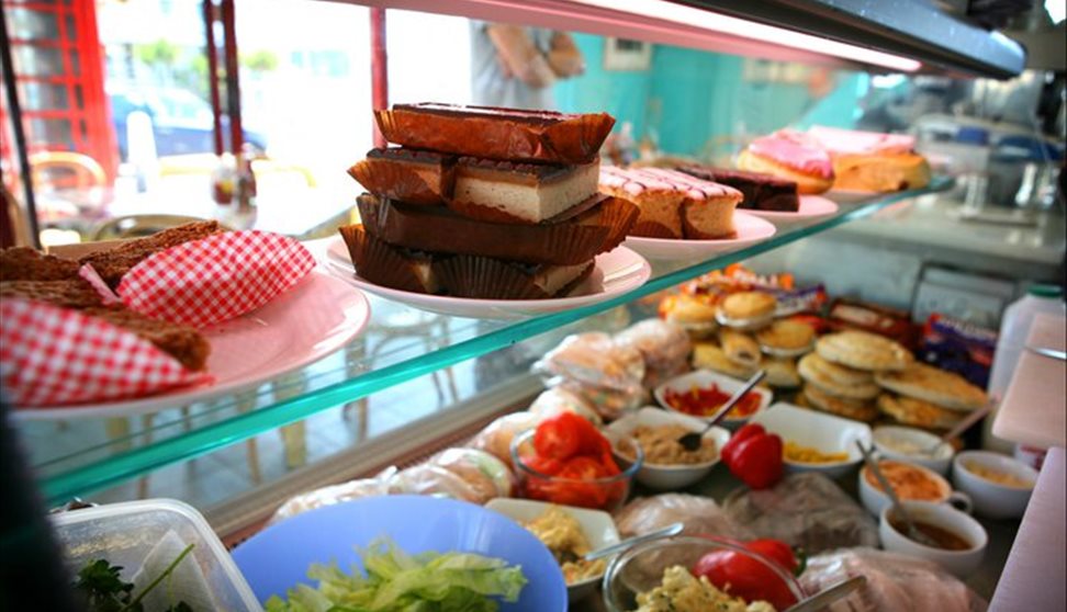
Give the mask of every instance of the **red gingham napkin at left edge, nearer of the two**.
M 16 406 L 127 399 L 211 378 L 77 310 L 2 299 L 0 320 L 0 382 Z

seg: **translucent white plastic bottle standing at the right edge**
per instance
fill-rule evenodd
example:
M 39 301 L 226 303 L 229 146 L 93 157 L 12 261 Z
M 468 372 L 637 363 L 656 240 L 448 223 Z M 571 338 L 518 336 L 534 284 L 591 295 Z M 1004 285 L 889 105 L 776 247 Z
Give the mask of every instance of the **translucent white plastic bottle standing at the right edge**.
M 1004 316 L 1000 319 L 1000 336 L 997 337 L 997 352 L 993 354 L 992 370 L 989 373 L 989 397 L 993 406 L 999 407 L 1000 400 L 1008 390 L 1015 365 L 1026 343 L 1030 327 L 1038 314 L 1064 316 L 1063 292 L 1056 285 L 1031 285 L 1026 295 L 1012 302 L 1004 308 Z M 1014 444 L 1001 440 L 992 434 L 993 416 L 986 418 L 982 428 L 981 445 L 986 449 L 1011 453 Z

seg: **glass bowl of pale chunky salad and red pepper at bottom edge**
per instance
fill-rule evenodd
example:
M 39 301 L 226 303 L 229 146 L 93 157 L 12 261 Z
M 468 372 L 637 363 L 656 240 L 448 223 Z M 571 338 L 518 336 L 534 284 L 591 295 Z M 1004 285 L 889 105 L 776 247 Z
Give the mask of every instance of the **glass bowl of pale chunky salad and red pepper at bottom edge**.
M 793 576 L 798 570 L 801 560 L 774 540 L 659 537 L 611 560 L 604 575 L 604 603 L 610 612 L 642 604 L 654 610 L 782 611 L 805 597 Z

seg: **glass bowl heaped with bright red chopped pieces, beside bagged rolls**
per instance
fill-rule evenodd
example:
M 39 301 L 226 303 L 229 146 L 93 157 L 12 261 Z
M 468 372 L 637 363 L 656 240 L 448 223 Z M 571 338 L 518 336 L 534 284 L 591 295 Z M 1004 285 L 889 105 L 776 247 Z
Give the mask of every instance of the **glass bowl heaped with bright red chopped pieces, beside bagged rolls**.
M 634 460 L 620 467 L 613 450 Z M 555 415 L 512 442 L 519 495 L 562 506 L 615 511 L 626 502 L 644 453 L 628 437 L 602 433 L 572 412 Z

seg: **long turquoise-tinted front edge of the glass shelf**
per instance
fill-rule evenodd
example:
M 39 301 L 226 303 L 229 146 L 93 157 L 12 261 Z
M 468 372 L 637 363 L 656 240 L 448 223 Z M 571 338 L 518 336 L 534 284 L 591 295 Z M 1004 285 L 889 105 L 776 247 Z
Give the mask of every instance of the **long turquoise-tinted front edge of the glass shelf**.
M 921 190 L 879 196 L 871 202 L 858 204 L 855 208 L 830 219 L 780 236 L 775 236 L 739 251 L 725 253 L 701 263 L 670 272 L 658 279 L 652 279 L 641 287 L 613 299 L 583 308 L 518 321 L 515 325 L 446 347 L 420 358 L 402 361 L 380 370 L 367 372 L 357 377 L 335 383 L 315 392 L 276 403 L 272 406 L 237 415 L 224 421 L 198 428 L 180 435 L 99 460 L 68 472 L 47 476 L 42 481 L 44 495 L 49 503 L 64 503 L 72 497 L 88 495 L 172 463 L 188 461 L 224 446 L 236 444 L 254 435 L 311 417 L 321 410 L 356 401 L 360 397 L 398 385 L 420 375 L 429 374 L 442 367 L 490 353 L 514 342 L 531 338 L 563 325 L 627 304 L 658 291 L 669 288 L 711 270 L 777 249 L 846 223 L 868 217 L 901 200 L 945 191 L 953 184 L 954 181 L 951 178 L 935 177 L 930 185 Z

